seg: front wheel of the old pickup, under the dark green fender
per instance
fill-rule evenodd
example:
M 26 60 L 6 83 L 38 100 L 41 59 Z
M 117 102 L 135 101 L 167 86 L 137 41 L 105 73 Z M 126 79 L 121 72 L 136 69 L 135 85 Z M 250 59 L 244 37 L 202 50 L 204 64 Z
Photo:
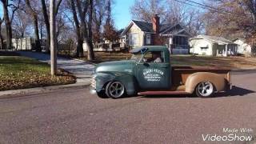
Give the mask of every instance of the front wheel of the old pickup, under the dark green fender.
M 106 85 L 106 95 L 109 98 L 122 98 L 126 94 L 125 86 L 122 84 L 122 82 L 114 81 L 109 82 Z

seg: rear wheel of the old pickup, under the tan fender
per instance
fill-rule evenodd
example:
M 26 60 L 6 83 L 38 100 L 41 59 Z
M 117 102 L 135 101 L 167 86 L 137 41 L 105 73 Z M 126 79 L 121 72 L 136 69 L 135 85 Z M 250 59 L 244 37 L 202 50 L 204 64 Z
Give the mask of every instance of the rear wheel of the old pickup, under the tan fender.
M 214 85 L 211 82 L 200 82 L 195 88 L 195 94 L 200 98 L 210 98 L 214 94 Z

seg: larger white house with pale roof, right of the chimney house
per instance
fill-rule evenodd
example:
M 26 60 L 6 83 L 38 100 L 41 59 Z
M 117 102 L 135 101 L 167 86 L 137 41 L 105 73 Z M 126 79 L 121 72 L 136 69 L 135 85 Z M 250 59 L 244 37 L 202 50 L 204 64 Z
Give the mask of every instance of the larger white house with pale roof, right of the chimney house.
M 190 38 L 190 54 L 228 56 L 237 54 L 237 45 L 225 38 L 198 35 Z

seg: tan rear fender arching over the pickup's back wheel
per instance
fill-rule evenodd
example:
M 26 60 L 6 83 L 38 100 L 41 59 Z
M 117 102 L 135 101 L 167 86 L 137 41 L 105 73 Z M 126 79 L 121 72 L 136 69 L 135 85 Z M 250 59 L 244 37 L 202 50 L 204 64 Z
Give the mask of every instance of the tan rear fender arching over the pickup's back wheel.
M 211 82 L 214 85 L 216 91 L 222 91 L 226 88 L 226 79 L 219 74 L 209 72 L 198 72 L 191 74 L 186 79 L 186 92 L 194 93 L 194 89 L 200 82 Z

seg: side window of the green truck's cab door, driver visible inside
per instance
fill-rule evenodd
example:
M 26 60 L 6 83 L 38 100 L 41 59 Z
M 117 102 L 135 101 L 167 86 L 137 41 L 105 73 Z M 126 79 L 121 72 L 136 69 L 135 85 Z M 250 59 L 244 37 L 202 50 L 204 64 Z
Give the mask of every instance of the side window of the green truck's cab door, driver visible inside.
M 164 62 L 163 52 L 161 51 L 150 51 L 144 54 L 144 62 L 148 63 L 162 63 Z

